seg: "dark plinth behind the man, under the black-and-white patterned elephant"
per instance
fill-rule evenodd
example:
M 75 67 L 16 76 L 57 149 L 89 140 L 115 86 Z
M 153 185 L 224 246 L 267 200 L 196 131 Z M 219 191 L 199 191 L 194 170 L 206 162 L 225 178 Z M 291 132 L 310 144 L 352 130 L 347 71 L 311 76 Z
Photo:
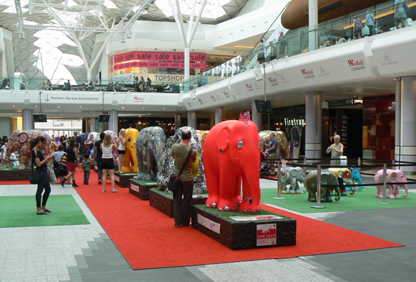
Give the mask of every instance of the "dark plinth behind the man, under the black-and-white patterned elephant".
M 192 205 L 205 205 L 207 197 L 208 195 L 193 195 Z M 159 188 L 151 188 L 149 191 L 149 204 L 169 217 L 175 217 L 173 213 L 173 194 L 166 194 L 164 191 L 160 191 Z

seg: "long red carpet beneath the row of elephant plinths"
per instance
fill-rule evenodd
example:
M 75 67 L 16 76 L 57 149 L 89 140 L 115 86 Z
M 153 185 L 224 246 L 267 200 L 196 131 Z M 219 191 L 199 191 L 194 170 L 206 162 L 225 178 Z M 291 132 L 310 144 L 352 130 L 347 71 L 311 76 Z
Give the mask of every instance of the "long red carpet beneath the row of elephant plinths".
M 81 177 L 78 172 L 78 184 L 83 183 Z M 173 218 L 149 206 L 148 201 L 128 193 L 128 188 L 116 186 L 119 193 L 103 193 L 102 189 L 102 185 L 98 186 L 96 173 L 92 172 L 90 184 L 81 185 L 76 190 L 134 269 L 292 258 L 403 246 L 262 206 L 297 220 L 297 245 L 232 251 L 192 227 L 175 228 Z M 108 182 L 107 191 L 111 191 Z

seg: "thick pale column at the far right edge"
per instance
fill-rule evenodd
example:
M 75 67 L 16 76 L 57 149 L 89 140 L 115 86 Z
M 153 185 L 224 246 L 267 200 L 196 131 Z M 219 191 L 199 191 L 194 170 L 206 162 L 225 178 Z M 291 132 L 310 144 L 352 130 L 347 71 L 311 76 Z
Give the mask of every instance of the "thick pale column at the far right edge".
M 416 76 L 404 76 L 396 81 L 395 160 L 416 162 Z M 415 166 L 401 166 L 415 172 Z

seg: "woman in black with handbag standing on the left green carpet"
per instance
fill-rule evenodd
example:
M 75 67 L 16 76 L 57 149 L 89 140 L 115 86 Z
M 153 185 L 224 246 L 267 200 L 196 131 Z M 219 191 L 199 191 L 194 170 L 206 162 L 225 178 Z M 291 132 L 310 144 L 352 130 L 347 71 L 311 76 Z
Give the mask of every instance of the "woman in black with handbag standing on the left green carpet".
M 49 155 L 46 158 L 44 157 L 40 149 L 44 148 L 45 144 L 46 140 L 44 136 L 37 136 L 31 141 L 32 166 L 33 164 L 36 164 L 36 172 L 40 175 L 36 191 L 36 214 L 42 215 L 51 213 L 49 209 L 46 209 L 46 202 L 48 201 L 49 194 L 51 194 L 51 184 L 49 183 L 47 163 L 53 158 L 53 155 Z M 42 198 L 43 191 L 45 191 L 45 193 Z

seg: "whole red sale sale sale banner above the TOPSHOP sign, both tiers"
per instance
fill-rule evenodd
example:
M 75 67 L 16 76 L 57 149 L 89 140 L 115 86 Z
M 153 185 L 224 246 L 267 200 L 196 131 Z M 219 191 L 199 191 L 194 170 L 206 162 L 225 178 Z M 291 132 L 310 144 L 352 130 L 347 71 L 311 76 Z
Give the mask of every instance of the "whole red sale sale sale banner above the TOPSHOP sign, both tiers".
M 191 69 L 207 68 L 207 54 L 190 53 L 189 61 Z M 184 68 L 184 53 L 134 51 L 112 57 L 113 71 L 130 67 L 182 69 Z

